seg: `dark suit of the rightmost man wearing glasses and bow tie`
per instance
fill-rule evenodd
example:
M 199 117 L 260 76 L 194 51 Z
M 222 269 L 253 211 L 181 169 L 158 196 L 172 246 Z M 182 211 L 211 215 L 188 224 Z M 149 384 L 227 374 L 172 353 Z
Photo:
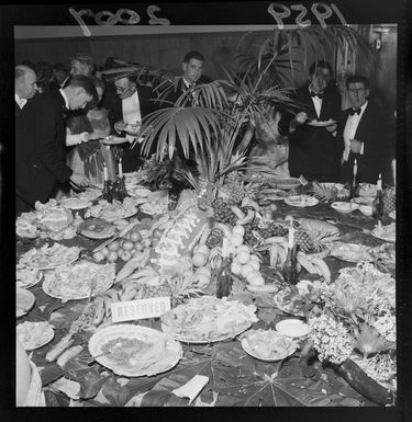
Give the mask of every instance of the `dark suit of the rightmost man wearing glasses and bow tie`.
M 345 110 L 339 119 L 337 136 L 342 140 L 349 110 Z M 348 161 L 342 168 L 342 181 L 346 182 L 352 179 L 356 158 L 359 182 L 376 183 L 379 173 L 382 173 L 383 183 L 393 184 L 391 140 L 394 138 L 394 134 L 390 132 L 389 116 L 378 104 L 368 102 L 354 138 L 364 142 L 364 153 L 349 152 Z

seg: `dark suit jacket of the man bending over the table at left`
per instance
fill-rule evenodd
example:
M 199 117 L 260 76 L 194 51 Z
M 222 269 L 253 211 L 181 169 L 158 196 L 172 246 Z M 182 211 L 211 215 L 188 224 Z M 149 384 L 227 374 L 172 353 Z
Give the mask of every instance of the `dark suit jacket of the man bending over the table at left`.
M 47 202 L 56 183 L 73 174 L 66 164 L 64 105 L 58 91 L 35 95 L 15 127 L 16 195 L 31 205 Z

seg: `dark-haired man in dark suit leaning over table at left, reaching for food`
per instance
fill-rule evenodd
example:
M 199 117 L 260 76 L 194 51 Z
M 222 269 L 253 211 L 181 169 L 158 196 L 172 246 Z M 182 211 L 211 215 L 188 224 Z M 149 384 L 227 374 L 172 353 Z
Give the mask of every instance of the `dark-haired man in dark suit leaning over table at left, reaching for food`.
M 87 186 L 88 179 L 66 164 L 66 128 L 68 110 L 83 109 L 97 102 L 91 79 L 74 77 L 60 90 L 36 95 L 22 111 L 15 127 L 15 207 L 16 215 L 33 209 L 36 201 L 47 202 L 58 183 Z

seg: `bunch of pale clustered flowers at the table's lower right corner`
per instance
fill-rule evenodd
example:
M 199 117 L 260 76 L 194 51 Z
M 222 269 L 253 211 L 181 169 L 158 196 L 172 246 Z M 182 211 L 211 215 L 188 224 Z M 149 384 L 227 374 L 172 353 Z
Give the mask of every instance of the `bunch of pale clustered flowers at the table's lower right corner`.
M 394 280 L 359 263 L 342 269 L 321 293 L 324 307 L 308 315 L 319 360 L 341 365 L 350 357 L 370 378 L 396 390 Z

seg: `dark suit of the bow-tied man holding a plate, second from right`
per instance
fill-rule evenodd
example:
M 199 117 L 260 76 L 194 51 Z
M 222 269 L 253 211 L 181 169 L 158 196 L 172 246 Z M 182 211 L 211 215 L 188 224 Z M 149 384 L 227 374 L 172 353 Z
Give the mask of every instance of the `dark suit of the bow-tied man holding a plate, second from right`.
M 336 91 L 325 91 L 320 117 L 316 116 L 308 85 L 298 89 L 292 99 L 312 119 L 337 121 L 341 115 L 341 95 Z M 292 118 L 293 115 L 287 114 L 279 123 L 283 135 L 287 134 Z M 296 176 L 303 174 L 310 181 L 337 182 L 343 149 L 342 139 L 334 137 L 324 127 L 313 127 L 304 123 L 289 136 L 289 171 Z

